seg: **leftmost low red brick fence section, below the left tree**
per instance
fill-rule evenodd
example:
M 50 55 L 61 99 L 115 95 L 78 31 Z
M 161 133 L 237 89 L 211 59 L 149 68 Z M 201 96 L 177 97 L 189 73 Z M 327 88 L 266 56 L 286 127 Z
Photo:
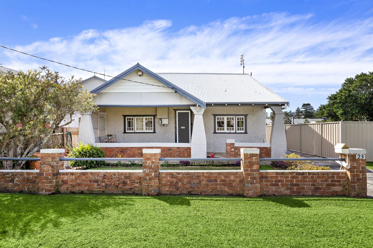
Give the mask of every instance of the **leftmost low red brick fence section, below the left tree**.
M 39 171 L 0 171 L 0 192 L 36 194 Z

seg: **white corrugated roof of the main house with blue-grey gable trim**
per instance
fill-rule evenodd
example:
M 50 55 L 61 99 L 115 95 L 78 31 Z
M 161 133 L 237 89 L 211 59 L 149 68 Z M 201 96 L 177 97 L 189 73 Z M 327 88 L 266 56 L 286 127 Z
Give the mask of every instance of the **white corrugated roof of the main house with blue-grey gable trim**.
M 143 71 L 202 107 L 206 104 L 289 104 L 249 74 L 153 73 L 139 63 L 91 92 L 97 94 L 135 70 Z

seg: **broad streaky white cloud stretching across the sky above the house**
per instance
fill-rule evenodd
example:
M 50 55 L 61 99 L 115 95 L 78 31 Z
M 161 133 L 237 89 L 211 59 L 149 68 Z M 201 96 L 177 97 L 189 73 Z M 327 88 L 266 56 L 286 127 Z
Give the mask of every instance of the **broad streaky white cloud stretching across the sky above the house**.
M 372 71 L 373 18 L 315 23 L 311 14 L 267 13 L 216 20 L 178 32 L 171 32 L 171 25 L 170 20 L 152 20 L 13 48 L 99 73 L 105 70 L 108 75 L 137 62 L 155 72 L 241 73 L 239 57 L 245 53 L 247 73 L 278 87 L 278 92 L 296 87 L 300 94 L 330 94 L 345 78 Z M 7 59 L 2 63 L 10 68 L 48 65 L 65 77 L 92 76 L 15 52 L 4 53 Z

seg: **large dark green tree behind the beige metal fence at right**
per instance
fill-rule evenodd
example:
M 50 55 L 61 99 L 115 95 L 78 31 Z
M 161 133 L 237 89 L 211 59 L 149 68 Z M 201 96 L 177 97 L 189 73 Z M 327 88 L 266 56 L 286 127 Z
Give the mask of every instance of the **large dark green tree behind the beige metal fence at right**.
M 341 88 L 317 109 L 329 121 L 373 121 L 373 72 L 346 78 Z

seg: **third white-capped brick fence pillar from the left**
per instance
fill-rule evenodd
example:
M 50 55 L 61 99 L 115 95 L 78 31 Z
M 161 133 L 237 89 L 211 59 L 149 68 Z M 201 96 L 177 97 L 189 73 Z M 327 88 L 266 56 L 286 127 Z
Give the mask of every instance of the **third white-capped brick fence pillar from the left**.
M 241 170 L 244 174 L 244 195 L 260 195 L 259 149 L 241 148 Z

